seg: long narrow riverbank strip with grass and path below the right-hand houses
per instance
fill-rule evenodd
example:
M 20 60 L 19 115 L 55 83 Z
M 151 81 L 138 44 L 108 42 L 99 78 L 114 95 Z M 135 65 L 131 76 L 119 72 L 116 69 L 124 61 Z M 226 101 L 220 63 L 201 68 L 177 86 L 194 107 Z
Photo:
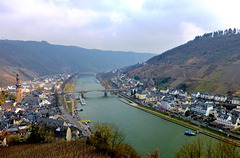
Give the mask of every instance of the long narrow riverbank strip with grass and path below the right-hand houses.
M 220 135 L 218 135 L 218 134 L 216 134 L 216 133 L 210 132 L 210 131 L 202 128 L 201 126 L 199 127 L 199 126 L 196 126 L 196 125 L 194 125 L 194 124 L 190 124 L 190 123 L 187 123 L 187 122 L 183 122 L 183 121 L 181 121 L 181 120 L 172 118 L 171 116 L 161 114 L 161 113 L 158 112 L 158 111 L 154 111 L 154 110 L 152 110 L 152 109 L 149 109 L 149 108 L 147 108 L 147 107 L 144 107 L 144 106 L 142 106 L 142 105 L 139 105 L 138 103 L 130 100 L 129 98 L 126 98 L 125 96 L 123 96 L 123 95 L 121 95 L 121 94 L 119 94 L 119 93 L 118 93 L 118 95 L 119 95 L 121 98 L 125 99 L 126 101 L 122 100 L 122 99 L 119 98 L 119 97 L 117 97 L 117 99 L 119 99 L 120 101 L 122 101 L 122 102 L 124 102 L 124 103 L 126 103 L 126 104 L 128 104 L 128 105 L 131 105 L 131 106 L 133 106 L 133 107 L 135 107 L 135 108 L 138 108 L 138 109 L 140 109 L 140 110 L 146 111 L 146 112 L 148 112 L 148 113 L 151 113 L 151 114 L 153 114 L 153 115 L 156 115 L 156 116 L 158 116 L 158 117 L 161 117 L 161 118 L 163 118 L 163 119 L 165 119 L 165 120 L 171 121 L 171 122 L 173 122 L 173 123 L 179 124 L 179 125 L 181 125 L 181 126 L 190 128 L 190 129 L 195 130 L 195 131 L 198 131 L 199 133 L 205 134 L 205 135 L 207 135 L 207 136 L 210 136 L 210 137 L 216 138 L 216 139 L 218 139 L 218 140 L 221 140 L 221 141 L 224 141 L 224 142 L 227 142 L 227 143 L 230 143 L 230 144 L 233 144 L 233 145 L 236 145 L 236 146 L 240 147 L 240 141 L 239 141 L 239 140 L 233 140 L 233 139 L 230 139 L 230 138 L 227 138 L 227 137 L 220 136 Z

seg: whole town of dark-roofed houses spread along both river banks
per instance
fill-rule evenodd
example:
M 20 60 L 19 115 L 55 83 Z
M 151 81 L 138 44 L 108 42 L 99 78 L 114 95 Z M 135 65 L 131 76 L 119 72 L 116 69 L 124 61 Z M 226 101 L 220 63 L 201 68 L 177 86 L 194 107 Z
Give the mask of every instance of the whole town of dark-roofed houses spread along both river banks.
M 108 84 L 119 89 L 126 98 L 226 136 L 240 138 L 240 98 L 207 92 L 188 94 L 181 89 L 166 87 L 157 89 L 153 79 L 128 78 L 121 70 L 111 73 L 114 77 Z M 1 94 L 7 97 L 1 99 L 0 145 L 29 141 L 34 128 L 44 128 L 45 136 L 41 142 L 87 139 L 91 129 L 81 123 L 74 107 L 69 109 L 67 106 L 67 102 L 73 102 L 76 97 L 71 93 L 63 95 L 66 84 L 76 76 L 51 75 L 21 83 L 17 75 L 15 85 L 1 87 Z M 102 80 L 100 75 L 97 76 Z

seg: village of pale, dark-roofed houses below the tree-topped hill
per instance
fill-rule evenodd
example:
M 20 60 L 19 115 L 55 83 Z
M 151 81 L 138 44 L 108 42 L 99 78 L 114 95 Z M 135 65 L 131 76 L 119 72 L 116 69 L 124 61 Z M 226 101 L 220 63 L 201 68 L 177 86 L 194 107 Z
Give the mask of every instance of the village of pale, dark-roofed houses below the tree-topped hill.
M 110 84 L 126 89 L 123 94 L 135 102 L 195 124 L 240 137 L 240 98 L 223 94 L 193 92 L 172 88 L 156 89 L 152 79 L 128 78 L 113 71 Z

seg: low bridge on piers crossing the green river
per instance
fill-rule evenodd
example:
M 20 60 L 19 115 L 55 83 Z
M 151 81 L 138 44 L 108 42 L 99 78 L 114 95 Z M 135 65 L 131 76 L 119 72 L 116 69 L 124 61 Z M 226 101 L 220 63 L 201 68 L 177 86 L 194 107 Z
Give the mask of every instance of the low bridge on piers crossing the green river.
M 72 93 L 79 93 L 81 94 L 82 98 L 84 94 L 89 92 L 103 92 L 104 96 L 107 96 L 108 92 L 117 92 L 117 91 L 124 91 L 125 89 L 94 89 L 94 90 L 80 90 L 80 91 L 65 91 L 63 94 L 72 94 Z

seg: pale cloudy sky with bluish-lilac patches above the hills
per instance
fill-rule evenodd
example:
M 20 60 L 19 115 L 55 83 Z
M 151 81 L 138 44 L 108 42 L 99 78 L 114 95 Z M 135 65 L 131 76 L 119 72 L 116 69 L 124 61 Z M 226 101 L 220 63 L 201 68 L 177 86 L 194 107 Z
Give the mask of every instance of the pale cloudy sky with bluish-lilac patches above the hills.
M 160 54 L 240 29 L 239 0 L 0 0 L 0 38 Z

